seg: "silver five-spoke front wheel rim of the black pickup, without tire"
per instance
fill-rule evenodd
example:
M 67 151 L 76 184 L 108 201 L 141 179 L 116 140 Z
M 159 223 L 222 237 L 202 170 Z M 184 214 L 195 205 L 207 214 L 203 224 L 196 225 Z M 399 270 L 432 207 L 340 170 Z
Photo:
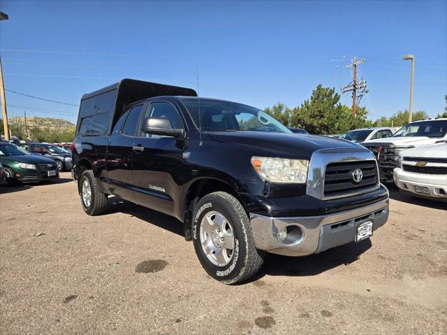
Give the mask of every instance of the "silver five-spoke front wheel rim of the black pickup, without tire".
M 212 264 L 226 266 L 230 263 L 235 248 L 233 227 L 221 213 L 210 211 L 200 222 L 200 243 Z

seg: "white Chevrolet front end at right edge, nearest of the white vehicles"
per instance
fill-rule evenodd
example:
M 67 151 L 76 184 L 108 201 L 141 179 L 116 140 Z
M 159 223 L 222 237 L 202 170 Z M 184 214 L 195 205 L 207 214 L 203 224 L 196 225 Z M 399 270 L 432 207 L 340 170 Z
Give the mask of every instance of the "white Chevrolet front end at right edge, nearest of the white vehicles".
M 399 166 L 393 179 L 401 190 L 447 201 L 447 143 L 400 152 Z

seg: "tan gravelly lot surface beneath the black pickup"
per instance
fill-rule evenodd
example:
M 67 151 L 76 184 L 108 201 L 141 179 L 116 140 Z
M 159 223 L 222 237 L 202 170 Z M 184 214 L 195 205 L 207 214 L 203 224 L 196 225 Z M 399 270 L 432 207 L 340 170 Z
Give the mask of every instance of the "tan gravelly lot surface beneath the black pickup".
M 0 334 L 446 334 L 446 204 L 391 197 L 370 241 L 226 286 L 173 218 L 117 198 L 89 217 L 69 173 L 3 187 Z

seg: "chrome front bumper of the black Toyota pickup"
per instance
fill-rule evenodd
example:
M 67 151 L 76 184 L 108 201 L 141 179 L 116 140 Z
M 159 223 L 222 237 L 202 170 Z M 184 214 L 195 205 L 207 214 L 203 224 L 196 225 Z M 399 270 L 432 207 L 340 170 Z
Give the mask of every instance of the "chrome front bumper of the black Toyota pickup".
M 372 221 L 373 230 L 388 220 L 389 200 L 330 215 L 297 218 L 269 218 L 250 213 L 251 231 L 256 248 L 274 254 L 305 256 L 355 241 L 357 226 Z M 298 226 L 302 235 L 294 243 L 279 241 L 278 233 L 287 226 Z

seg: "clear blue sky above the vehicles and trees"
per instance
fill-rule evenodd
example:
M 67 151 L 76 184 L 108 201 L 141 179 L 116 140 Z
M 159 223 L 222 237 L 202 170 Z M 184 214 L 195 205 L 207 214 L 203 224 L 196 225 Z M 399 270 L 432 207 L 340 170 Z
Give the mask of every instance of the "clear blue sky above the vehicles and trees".
M 298 106 L 318 84 L 349 83 L 353 55 L 369 117 L 409 106 L 435 117 L 447 92 L 447 1 L 0 1 L 7 90 L 71 104 L 85 92 L 137 78 L 196 89 L 259 108 Z M 75 106 L 6 92 L 10 116 L 64 117 Z M 351 104 L 348 95 L 342 101 Z M 18 107 L 17 106 L 25 106 Z M 34 108 L 34 111 L 31 111 Z M 38 109 L 36 109 L 38 108 Z M 45 113 L 46 112 L 46 113 Z

